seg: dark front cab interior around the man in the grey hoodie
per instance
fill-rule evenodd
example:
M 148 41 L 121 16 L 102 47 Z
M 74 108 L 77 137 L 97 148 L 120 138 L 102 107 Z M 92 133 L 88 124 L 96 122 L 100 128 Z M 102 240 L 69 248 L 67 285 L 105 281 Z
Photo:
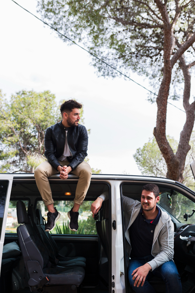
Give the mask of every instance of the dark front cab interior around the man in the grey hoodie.
M 143 185 L 124 183 L 121 185 L 121 192 L 127 197 L 140 201 Z M 174 224 L 173 260 L 181 277 L 182 293 L 195 292 L 195 242 L 191 242 L 187 246 L 187 241 L 180 239 L 180 235 L 182 237 L 195 236 L 195 214 L 194 217 L 193 215 L 189 217 L 187 221 L 184 218 L 186 213 L 192 214 L 192 209 L 195 209 L 195 202 L 187 198 L 186 195 L 183 195 L 177 188 L 171 189 L 160 184 L 158 184 L 158 187 L 160 190 L 160 201 L 157 205 L 170 215 Z M 149 283 L 156 292 L 166 292 L 163 280 L 153 276 Z M 129 285 L 127 274 L 125 276 L 125 287 L 128 288 L 126 292 L 134 292 Z

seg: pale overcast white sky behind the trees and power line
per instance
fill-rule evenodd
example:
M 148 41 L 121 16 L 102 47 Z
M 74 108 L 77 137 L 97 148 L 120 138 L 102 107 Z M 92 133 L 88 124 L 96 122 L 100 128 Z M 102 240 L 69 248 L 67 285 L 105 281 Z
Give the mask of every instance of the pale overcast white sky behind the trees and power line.
M 16 2 L 40 17 L 36 0 Z M 0 89 L 6 98 L 22 89 L 49 90 L 57 102 L 75 98 L 83 104 L 84 125 L 91 129 L 91 167 L 103 174 L 141 175 L 133 154 L 153 137 L 157 112 L 147 91 L 123 77 L 98 77 L 89 53 L 63 42 L 11 0 L 1 1 L 0 27 Z M 131 71 L 129 76 L 152 90 L 144 76 Z M 194 89 L 193 79 L 191 93 Z M 170 102 L 183 109 L 182 100 Z M 168 105 L 167 134 L 179 139 L 184 122 L 185 113 Z

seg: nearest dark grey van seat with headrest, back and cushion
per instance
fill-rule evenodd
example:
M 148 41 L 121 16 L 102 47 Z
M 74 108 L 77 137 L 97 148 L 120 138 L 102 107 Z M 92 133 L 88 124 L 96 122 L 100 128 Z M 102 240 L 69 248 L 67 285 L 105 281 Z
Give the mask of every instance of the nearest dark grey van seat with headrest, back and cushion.
M 49 254 L 32 225 L 28 224 L 25 204 L 19 200 L 16 204 L 18 224 L 18 241 L 25 262 L 25 267 L 30 275 L 28 285 L 33 292 L 40 292 L 46 285 L 79 286 L 84 279 L 84 269 L 81 267 L 61 267 L 49 262 Z M 54 288 L 54 292 L 57 291 Z M 47 290 L 46 290 L 47 291 Z M 67 289 L 64 290 L 66 292 Z M 76 293 L 76 292 L 75 292 Z

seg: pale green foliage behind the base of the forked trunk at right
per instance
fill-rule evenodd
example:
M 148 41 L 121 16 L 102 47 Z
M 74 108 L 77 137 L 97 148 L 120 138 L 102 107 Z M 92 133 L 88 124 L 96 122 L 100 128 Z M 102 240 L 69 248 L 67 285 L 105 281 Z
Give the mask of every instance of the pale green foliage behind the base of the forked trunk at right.
M 178 142 L 170 136 L 167 136 L 167 139 L 175 154 Z M 194 190 L 195 182 L 189 163 L 192 160 L 190 154 L 194 154 L 195 152 L 195 132 L 192 132 L 189 144 L 191 149 L 187 154 L 183 173 L 184 180 L 182 183 Z M 155 137 L 149 139 L 149 142 L 145 143 L 142 148 L 138 148 L 133 157 L 141 174 L 146 176 L 166 177 L 167 165 L 160 149 L 158 148 Z

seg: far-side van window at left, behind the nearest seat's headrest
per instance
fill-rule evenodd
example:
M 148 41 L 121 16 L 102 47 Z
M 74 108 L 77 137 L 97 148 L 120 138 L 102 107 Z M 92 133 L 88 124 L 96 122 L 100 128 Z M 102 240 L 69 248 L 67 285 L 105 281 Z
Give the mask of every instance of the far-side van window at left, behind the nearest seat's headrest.
M 29 200 L 23 200 L 26 210 L 28 209 Z M 17 220 L 16 213 L 16 203 L 17 200 L 10 200 L 8 207 L 8 214 L 6 220 L 6 233 L 17 233 L 16 229 L 20 225 Z

